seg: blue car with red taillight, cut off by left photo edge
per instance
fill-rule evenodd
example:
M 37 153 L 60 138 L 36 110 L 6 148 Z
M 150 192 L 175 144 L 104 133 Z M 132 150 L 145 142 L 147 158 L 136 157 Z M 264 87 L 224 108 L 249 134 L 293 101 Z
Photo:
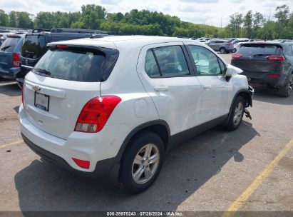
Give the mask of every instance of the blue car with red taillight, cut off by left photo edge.
M 0 77 L 15 79 L 19 73 L 19 53 L 24 36 L 10 34 L 0 46 Z

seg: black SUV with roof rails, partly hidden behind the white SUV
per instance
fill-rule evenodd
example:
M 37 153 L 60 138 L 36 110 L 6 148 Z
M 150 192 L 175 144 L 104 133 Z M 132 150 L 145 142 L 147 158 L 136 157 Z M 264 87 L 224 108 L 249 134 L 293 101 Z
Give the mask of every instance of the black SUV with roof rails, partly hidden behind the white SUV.
M 109 36 L 111 34 L 113 34 L 111 31 L 93 29 L 34 29 L 32 33 L 26 34 L 24 37 L 20 54 L 21 71 L 16 75 L 16 81 L 18 81 L 19 86 L 22 86 L 24 76 L 34 68 L 38 60 L 46 53 L 46 45 L 49 42 Z

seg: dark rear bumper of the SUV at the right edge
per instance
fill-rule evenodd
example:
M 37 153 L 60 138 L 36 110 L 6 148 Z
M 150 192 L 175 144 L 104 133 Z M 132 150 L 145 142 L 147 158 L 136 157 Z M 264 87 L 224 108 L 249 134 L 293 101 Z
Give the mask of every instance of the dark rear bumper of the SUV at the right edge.
M 242 74 L 247 76 L 247 80 L 250 84 L 272 86 L 275 88 L 284 86 L 287 81 L 287 75 L 284 75 L 284 74 L 278 74 L 279 78 L 269 77 L 269 74 L 273 74 L 273 73 L 243 71 Z

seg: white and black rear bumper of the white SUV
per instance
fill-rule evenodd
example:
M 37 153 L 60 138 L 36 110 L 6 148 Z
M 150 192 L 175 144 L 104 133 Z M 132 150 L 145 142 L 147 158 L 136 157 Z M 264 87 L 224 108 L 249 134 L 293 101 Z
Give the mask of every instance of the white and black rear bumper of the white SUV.
M 29 121 L 24 107 L 19 108 L 19 122 L 21 136 L 24 142 L 39 156 L 46 160 L 73 171 L 82 176 L 105 181 L 115 185 L 118 181 L 120 168 L 120 156 L 117 154 L 123 141 L 120 132 L 125 131 L 125 126 L 110 126 L 103 133 L 73 132 L 67 140 L 58 138 L 49 133 L 41 131 Z M 103 129 L 104 130 L 104 129 Z M 108 131 L 112 134 L 109 136 Z M 113 134 L 113 131 L 118 133 Z M 114 147 L 116 145 L 116 147 Z M 117 149 L 117 151 L 115 151 Z M 90 161 L 90 168 L 79 167 L 72 158 Z

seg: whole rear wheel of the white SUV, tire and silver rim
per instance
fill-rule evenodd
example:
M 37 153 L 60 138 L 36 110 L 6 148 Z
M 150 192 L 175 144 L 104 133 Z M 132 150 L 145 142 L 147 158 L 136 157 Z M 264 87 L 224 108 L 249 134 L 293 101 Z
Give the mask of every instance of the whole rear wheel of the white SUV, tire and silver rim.
M 163 165 L 164 145 L 157 134 L 145 131 L 129 143 L 120 169 L 120 184 L 128 193 L 140 193 L 148 189 L 160 173 Z

